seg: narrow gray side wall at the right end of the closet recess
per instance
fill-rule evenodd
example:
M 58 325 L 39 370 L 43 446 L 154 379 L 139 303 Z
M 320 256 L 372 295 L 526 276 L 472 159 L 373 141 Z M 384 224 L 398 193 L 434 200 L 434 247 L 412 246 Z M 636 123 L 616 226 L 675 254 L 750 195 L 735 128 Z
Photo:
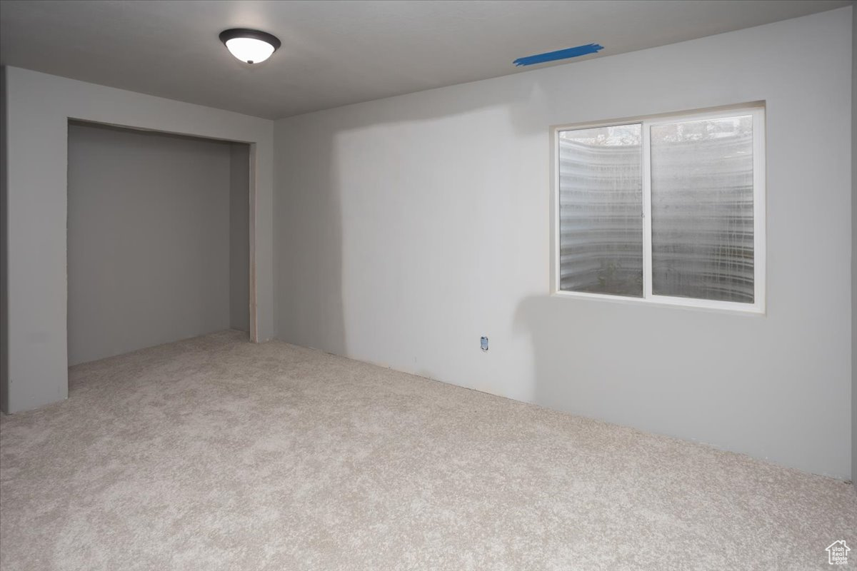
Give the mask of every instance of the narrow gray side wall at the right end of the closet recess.
M 229 325 L 250 330 L 250 147 L 233 143 L 229 179 Z

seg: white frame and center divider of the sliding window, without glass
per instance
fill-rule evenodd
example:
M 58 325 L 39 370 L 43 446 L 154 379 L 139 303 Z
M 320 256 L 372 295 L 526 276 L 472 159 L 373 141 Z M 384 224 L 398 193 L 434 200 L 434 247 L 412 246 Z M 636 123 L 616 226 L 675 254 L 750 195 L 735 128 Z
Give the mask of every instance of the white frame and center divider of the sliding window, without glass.
M 652 294 L 651 279 L 651 127 L 675 122 L 698 121 L 719 117 L 752 116 L 753 133 L 753 303 L 738 301 L 700 300 Z M 560 132 L 574 129 L 614 127 L 640 124 L 643 145 L 643 297 L 594 294 L 560 289 Z M 550 293 L 556 297 L 583 300 L 608 300 L 656 306 L 678 306 L 716 312 L 740 312 L 764 315 L 765 312 L 765 124 L 764 102 L 731 105 L 710 110 L 669 113 L 656 116 L 631 117 L 614 121 L 572 123 L 550 128 L 551 190 L 550 190 Z

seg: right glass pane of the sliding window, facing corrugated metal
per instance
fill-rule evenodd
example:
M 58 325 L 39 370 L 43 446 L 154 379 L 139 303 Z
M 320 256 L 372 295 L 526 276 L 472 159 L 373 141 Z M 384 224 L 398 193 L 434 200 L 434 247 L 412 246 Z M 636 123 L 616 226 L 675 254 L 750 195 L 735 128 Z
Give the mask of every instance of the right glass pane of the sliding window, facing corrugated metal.
M 650 135 L 652 293 L 752 303 L 752 116 Z

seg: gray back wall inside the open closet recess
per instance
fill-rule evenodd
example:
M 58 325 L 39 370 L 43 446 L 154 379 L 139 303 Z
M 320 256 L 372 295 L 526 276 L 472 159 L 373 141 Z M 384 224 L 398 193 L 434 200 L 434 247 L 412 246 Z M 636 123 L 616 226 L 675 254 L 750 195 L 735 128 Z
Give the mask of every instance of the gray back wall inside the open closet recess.
M 69 124 L 69 365 L 230 327 L 230 202 L 228 143 Z

